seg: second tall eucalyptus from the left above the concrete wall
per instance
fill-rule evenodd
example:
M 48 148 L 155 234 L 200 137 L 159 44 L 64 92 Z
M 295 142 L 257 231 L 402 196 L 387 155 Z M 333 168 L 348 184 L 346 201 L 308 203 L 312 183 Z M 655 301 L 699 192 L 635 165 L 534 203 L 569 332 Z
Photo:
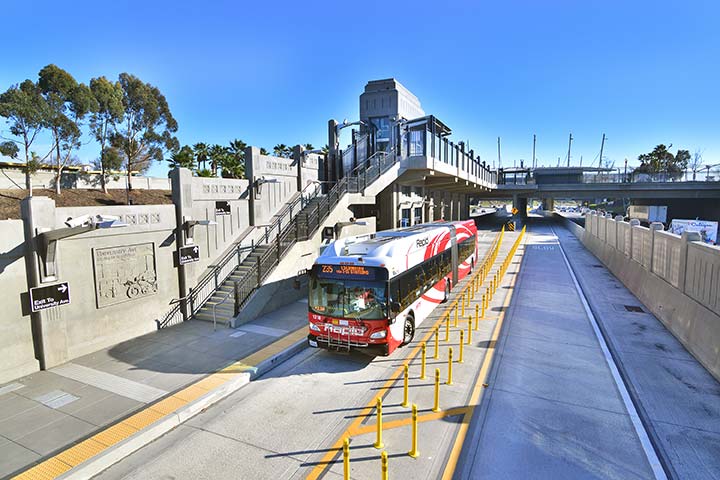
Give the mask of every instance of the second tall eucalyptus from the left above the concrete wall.
M 48 105 L 45 124 L 52 132 L 55 193 L 59 195 L 62 171 L 74 160 L 72 152 L 80 148 L 82 121 L 88 113 L 97 110 L 97 102 L 87 85 L 78 83 L 56 65 L 50 64 L 40 70 L 38 86 Z

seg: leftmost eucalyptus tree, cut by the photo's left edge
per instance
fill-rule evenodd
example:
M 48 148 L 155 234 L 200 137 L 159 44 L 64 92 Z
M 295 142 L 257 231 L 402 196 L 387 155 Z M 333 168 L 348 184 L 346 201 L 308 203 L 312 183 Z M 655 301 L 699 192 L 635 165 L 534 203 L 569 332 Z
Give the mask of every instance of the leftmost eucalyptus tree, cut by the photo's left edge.
M 32 196 L 31 175 L 37 167 L 35 155 L 31 155 L 30 147 L 43 130 L 48 108 L 45 99 L 40 95 L 38 85 L 32 80 L 25 80 L 19 85 L 10 87 L 0 94 L 0 117 L 7 120 L 10 133 L 18 139 L 12 142 L 22 145 L 25 153 L 25 188 Z M 6 146 L 5 151 L 10 151 Z

